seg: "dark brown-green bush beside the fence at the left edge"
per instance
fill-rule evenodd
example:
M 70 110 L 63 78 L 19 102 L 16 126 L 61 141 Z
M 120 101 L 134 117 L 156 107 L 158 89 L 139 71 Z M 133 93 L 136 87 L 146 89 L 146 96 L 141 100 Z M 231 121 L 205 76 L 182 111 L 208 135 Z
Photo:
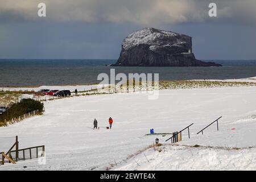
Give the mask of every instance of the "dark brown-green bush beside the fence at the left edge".
M 5 111 L 5 113 L 0 115 L 0 123 L 5 122 L 5 119 L 6 121 L 9 121 L 12 118 L 17 118 L 23 114 L 27 114 L 35 110 L 38 110 L 39 113 L 42 113 L 43 109 L 43 103 L 28 98 L 26 100 L 11 105 L 10 108 Z

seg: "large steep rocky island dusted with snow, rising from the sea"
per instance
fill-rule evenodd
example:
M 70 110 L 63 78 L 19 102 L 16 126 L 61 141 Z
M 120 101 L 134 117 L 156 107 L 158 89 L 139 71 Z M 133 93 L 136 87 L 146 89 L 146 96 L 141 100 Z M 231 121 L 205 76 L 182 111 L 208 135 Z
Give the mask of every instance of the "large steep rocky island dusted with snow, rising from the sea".
M 143 28 L 127 36 L 117 63 L 112 66 L 139 67 L 221 67 L 197 60 L 192 38 L 171 31 Z

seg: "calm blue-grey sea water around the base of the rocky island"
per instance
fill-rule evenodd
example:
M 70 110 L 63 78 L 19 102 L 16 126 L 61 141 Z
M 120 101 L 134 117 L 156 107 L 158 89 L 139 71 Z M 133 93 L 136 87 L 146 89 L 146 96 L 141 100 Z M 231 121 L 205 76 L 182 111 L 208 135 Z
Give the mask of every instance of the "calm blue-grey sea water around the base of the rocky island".
M 223 67 L 109 67 L 116 60 L 0 60 L 0 86 L 91 84 L 100 73 L 159 73 L 160 80 L 256 76 L 256 60 L 215 60 Z

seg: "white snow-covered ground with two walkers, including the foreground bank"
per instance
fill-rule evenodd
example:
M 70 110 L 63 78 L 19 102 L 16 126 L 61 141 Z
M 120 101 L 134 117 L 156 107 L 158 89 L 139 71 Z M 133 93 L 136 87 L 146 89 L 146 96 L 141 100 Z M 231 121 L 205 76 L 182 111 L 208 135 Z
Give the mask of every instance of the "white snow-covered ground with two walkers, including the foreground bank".
M 0 137 L 19 136 L 20 148 L 44 144 L 46 165 L 33 159 L 5 164 L 0 170 L 256 169 L 255 86 L 160 90 L 159 94 L 158 100 L 148 100 L 142 93 L 118 93 L 47 101 L 44 115 L 0 127 Z M 196 135 L 220 116 L 220 131 L 212 125 L 204 135 Z M 114 119 L 112 130 L 105 129 L 109 117 Z M 93 130 L 94 118 L 100 130 Z M 156 137 L 162 144 L 170 143 L 164 142 L 170 135 L 146 136 L 151 128 L 155 133 L 172 133 L 191 123 L 191 139 L 184 132 L 178 144 L 224 148 L 164 145 L 127 159 Z

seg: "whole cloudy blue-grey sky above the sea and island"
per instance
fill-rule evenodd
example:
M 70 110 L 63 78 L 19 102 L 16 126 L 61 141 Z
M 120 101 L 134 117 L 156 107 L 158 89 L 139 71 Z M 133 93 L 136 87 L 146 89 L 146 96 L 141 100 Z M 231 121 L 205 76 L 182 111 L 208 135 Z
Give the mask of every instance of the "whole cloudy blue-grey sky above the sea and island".
M 255 10 L 255 0 L 0 0 L 0 59 L 118 59 L 127 35 L 154 27 L 192 36 L 197 59 L 256 60 Z

